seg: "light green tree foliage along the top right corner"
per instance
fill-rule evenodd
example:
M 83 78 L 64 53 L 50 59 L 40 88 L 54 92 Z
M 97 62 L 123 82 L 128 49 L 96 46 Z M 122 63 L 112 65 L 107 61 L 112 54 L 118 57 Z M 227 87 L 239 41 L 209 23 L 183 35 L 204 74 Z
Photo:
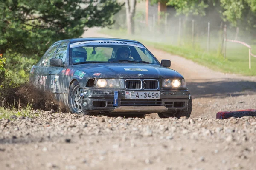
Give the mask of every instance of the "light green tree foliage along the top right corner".
M 157 0 L 152 0 L 157 1 Z M 255 34 L 256 0 L 168 0 L 166 5 L 173 6 L 177 14 L 214 17 L 231 23 L 234 27 Z

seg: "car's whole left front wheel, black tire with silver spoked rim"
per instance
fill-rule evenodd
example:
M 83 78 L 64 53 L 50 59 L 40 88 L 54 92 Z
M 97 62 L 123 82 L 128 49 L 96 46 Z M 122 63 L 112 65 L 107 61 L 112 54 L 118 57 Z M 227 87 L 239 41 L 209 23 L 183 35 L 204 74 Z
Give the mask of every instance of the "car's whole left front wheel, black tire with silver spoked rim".
M 83 111 L 81 99 L 79 94 L 81 93 L 81 87 L 78 81 L 74 81 L 68 91 L 68 107 L 72 113 L 87 115 L 89 112 Z

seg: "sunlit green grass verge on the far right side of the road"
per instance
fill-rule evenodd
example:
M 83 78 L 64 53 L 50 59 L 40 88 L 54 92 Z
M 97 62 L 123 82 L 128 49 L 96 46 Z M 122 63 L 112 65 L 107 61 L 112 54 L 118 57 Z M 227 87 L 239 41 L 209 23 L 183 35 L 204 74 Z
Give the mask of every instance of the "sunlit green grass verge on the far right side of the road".
M 125 30 L 103 29 L 101 32 L 111 35 L 112 37 L 138 40 L 142 42 L 145 46 L 154 47 L 169 52 L 171 54 L 185 57 L 186 59 L 190 59 L 200 65 L 207 66 L 208 68 L 216 71 L 221 71 L 224 73 L 242 74 L 247 76 L 256 75 L 256 58 L 251 57 L 250 70 L 248 48 L 240 44 L 227 42 L 227 58 L 224 59 L 222 55 L 218 54 L 217 50 L 211 50 L 210 52 L 206 52 L 198 46 L 197 48 L 192 48 L 189 45 L 169 45 L 168 43 L 163 41 L 154 41 L 153 36 L 151 36 L 153 37 L 152 40 L 149 40 L 148 38 L 143 38 L 140 35 L 134 35 L 131 37 L 126 35 Z M 252 52 L 256 54 L 256 45 L 252 46 Z

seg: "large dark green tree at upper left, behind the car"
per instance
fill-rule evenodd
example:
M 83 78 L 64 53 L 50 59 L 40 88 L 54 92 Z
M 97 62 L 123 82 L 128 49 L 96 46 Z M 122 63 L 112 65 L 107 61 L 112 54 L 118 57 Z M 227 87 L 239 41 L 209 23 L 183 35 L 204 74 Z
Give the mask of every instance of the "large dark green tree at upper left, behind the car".
M 0 54 L 41 57 L 53 42 L 79 37 L 85 27 L 111 26 L 121 6 L 117 0 L 1 0 Z

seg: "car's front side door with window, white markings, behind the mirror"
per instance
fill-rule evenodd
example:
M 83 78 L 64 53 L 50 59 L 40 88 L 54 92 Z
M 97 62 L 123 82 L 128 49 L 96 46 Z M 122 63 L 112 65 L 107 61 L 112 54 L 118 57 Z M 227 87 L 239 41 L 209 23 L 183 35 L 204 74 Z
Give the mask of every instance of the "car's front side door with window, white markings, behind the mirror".
M 61 80 L 64 78 L 64 73 L 66 69 L 64 69 L 64 62 L 67 57 L 67 42 L 61 42 L 56 51 L 56 54 L 52 58 L 62 59 L 61 67 L 53 67 L 50 66 L 47 69 L 47 79 L 50 80 L 50 91 L 55 94 L 65 94 L 67 91 L 64 91 L 64 85 L 61 83 Z

